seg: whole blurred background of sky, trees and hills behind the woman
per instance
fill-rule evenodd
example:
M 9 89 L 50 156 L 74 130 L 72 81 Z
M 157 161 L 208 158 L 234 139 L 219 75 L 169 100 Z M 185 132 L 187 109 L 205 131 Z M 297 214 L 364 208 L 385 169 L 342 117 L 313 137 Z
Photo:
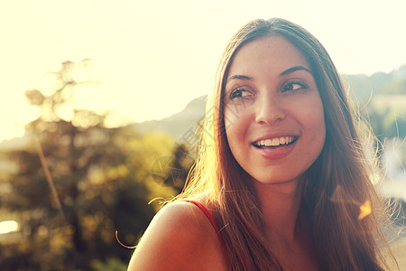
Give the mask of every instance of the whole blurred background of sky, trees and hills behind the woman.
M 141 238 L 160 199 L 181 191 L 227 40 L 270 17 L 318 38 L 370 122 L 378 191 L 398 202 L 391 242 L 406 268 L 405 7 L 2 1 L 0 269 L 125 270 L 133 252 L 125 246 Z

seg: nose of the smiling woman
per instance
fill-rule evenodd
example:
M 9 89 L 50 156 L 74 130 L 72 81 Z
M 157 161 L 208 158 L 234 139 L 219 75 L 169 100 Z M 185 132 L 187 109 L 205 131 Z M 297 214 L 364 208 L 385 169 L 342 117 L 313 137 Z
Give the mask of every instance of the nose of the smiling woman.
M 255 122 L 272 125 L 286 117 L 285 110 L 275 95 L 265 95 L 258 98 L 255 108 Z

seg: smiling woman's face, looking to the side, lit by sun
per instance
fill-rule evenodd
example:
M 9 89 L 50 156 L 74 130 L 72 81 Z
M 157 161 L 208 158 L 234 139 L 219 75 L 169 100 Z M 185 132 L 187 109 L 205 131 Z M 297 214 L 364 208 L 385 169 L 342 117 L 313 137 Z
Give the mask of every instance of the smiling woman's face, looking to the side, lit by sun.
M 282 37 L 245 44 L 225 88 L 226 136 L 257 182 L 298 180 L 323 149 L 323 105 L 305 57 Z

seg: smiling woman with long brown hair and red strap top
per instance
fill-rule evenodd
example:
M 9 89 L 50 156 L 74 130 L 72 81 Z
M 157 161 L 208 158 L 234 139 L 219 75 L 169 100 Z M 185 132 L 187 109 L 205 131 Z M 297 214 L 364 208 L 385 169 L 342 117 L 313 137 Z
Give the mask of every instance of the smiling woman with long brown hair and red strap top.
M 370 173 L 328 52 L 294 23 L 247 23 L 220 61 L 188 185 L 129 270 L 383 270 Z

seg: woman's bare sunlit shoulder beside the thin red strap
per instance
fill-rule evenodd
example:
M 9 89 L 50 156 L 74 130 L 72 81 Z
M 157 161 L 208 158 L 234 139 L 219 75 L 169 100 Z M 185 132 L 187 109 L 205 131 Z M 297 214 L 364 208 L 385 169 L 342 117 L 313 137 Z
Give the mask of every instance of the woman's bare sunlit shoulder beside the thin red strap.
M 128 270 L 226 270 L 216 231 L 186 201 L 163 207 L 134 251 Z

